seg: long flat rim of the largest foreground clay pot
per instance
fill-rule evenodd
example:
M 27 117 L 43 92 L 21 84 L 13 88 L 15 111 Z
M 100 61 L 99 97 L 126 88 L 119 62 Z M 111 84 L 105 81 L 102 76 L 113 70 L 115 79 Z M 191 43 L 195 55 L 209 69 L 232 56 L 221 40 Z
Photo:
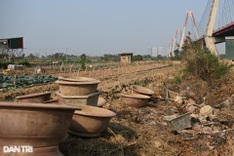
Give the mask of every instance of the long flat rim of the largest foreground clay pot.
M 0 109 L 2 108 L 32 108 L 32 109 L 68 109 L 68 110 L 78 110 L 77 106 L 70 105 L 58 105 L 58 104 L 44 104 L 44 103 L 27 103 L 27 102 L 0 102 Z

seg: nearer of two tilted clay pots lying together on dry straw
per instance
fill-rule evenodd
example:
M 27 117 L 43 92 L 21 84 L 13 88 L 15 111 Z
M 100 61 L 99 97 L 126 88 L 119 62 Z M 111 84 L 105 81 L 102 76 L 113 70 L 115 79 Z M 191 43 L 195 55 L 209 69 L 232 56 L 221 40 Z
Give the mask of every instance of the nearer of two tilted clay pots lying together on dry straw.
M 143 107 L 147 104 L 150 96 L 141 94 L 123 94 L 123 102 L 131 107 Z

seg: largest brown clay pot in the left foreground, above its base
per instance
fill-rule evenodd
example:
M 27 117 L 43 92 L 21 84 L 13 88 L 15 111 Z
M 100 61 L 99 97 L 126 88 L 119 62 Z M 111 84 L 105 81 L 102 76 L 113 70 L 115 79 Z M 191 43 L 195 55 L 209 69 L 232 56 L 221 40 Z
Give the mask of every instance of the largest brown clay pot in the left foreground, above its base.
M 0 102 L 0 146 L 57 146 L 76 109 L 68 105 Z

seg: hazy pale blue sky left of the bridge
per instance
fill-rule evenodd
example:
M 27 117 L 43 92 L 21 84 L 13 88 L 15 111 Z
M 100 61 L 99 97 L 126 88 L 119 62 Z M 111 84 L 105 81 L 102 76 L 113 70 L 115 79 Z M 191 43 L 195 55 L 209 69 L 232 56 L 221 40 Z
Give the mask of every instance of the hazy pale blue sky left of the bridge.
M 0 38 L 24 37 L 25 53 L 149 54 L 164 47 L 187 11 L 207 0 L 0 0 Z

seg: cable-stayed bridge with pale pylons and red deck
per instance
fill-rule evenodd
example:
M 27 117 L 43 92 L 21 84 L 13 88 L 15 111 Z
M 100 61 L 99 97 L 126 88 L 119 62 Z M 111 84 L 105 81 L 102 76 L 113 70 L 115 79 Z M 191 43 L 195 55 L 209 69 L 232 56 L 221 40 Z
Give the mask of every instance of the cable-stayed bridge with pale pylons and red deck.
M 225 43 L 226 58 L 234 60 L 234 0 L 208 0 L 198 26 L 193 12 L 187 12 L 183 28 L 177 28 L 170 41 L 169 57 L 183 50 L 186 36 L 215 55 L 219 55 L 216 44 Z

